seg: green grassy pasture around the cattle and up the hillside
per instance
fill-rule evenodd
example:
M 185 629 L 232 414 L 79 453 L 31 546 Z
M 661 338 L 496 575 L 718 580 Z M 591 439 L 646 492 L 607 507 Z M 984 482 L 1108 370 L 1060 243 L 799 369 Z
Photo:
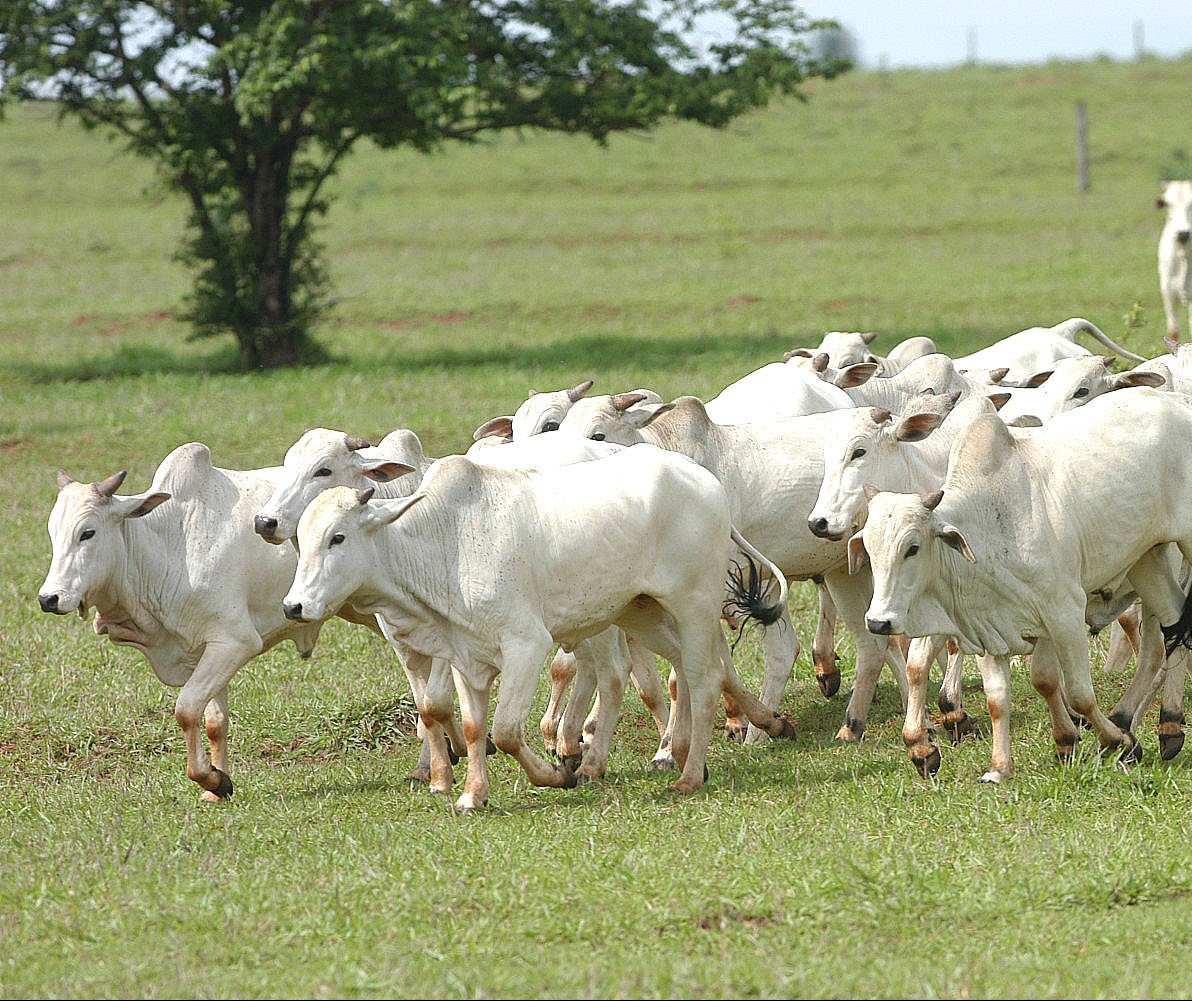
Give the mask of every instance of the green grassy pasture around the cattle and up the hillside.
M 982 734 L 906 760 L 883 679 L 864 741 L 833 740 L 801 655 L 796 740 L 718 738 L 690 797 L 645 769 L 626 698 L 608 778 L 538 790 L 493 759 L 491 806 L 410 788 L 405 683 L 331 623 L 315 657 L 232 684 L 230 803 L 185 777 L 173 695 L 143 659 L 43 615 L 54 472 L 175 446 L 280 460 L 309 427 L 415 429 L 460 452 L 530 388 L 586 378 L 710 397 L 824 330 L 976 348 L 1085 316 L 1162 349 L 1151 207 L 1190 142 L 1192 63 L 853 74 L 726 132 L 608 149 L 507 136 L 360 150 L 321 238 L 339 361 L 243 375 L 175 319 L 184 207 L 52 110 L 0 123 L 0 996 L 1187 996 L 1187 753 L 1073 765 L 1019 672 L 1017 772 Z M 1075 102 L 1092 189 L 1076 189 Z M 1134 315 L 1141 321 L 1128 324 Z M 797 520 L 795 520 L 797 521 Z M 814 596 L 796 589 L 809 647 Z M 1100 670 L 1110 705 L 1126 678 Z M 738 661 L 760 682 L 746 638 Z M 530 728 L 532 739 L 536 734 Z M 461 767 L 460 767 L 461 778 Z

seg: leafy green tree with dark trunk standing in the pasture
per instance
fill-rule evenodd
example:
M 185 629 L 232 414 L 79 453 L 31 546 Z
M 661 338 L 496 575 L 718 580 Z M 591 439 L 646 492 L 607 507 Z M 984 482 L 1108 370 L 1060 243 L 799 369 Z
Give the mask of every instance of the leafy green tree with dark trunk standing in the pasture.
M 0 100 L 54 99 L 156 162 L 190 206 L 186 317 L 247 368 L 312 360 L 315 240 L 353 145 L 502 129 L 722 126 L 799 94 L 815 27 L 777 0 L 7 0 Z M 697 19 L 722 38 L 697 52 Z M 727 29 L 725 27 L 727 25 Z

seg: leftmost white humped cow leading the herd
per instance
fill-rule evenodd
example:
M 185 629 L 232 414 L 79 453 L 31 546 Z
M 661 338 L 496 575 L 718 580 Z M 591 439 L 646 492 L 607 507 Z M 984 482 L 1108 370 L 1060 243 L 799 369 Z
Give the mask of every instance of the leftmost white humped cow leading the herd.
M 95 609 L 99 635 L 141 651 L 164 684 L 181 689 L 174 716 L 186 735 L 186 773 L 203 798 L 225 800 L 228 683 L 283 640 L 309 655 L 319 628 L 281 611 L 293 548 L 253 534 L 253 514 L 279 470 L 222 470 L 205 444 L 191 442 L 162 460 L 147 492 L 118 495 L 124 475 L 86 484 L 58 473 L 54 557 L 38 602 L 57 615 Z

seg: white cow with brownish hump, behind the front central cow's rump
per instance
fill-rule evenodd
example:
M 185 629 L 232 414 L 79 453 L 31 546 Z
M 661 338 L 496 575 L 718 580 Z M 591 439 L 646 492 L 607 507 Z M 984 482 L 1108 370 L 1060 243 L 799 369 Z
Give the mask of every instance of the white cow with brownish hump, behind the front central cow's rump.
M 679 397 L 653 416 L 634 416 L 631 404 L 632 394 L 589 397 L 567 414 L 563 430 L 622 444 L 645 441 L 695 459 L 725 485 L 733 523 L 789 579 L 826 584 L 857 644 L 856 682 L 837 736 L 859 740 L 883 661 L 902 688 L 901 654 L 865 632 L 868 582 L 849 577 L 844 542 L 817 539 L 806 528 L 824 479 L 822 442 L 848 427 L 851 408 L 763 424 L 718 424 L 695 397 Z M 786 608 L 783 627 L 765 633 L 763 648 L 762 701 L 776 709 L 799 652 Z M 840 682 L 834 661 L 817 658 L 815 670 L 821 691 L 833 695 Z M 760 735 L 751 730 L 746 739 Z

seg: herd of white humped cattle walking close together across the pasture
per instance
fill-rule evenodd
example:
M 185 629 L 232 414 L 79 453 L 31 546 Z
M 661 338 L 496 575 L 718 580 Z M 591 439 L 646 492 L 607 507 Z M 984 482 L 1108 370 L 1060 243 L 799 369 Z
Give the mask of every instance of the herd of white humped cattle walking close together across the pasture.
M 1115 373 L 1116 358 L 1078 334 L 1140 365 Z M 410 430 L 374 446 L 315 429 L 261 470 L 219 468 L 206 446 L 184 444 L 138 495 L 119 492 L 123 473 L 87 484 L 60 472 L 38 601 L 94 610 L 98 634 L 181 689 L 187 775 L 209 800 L 232 791 L 232 676 L 281 640 L 309 654 L 334 615 L 399 657 L 421 719 L 414 776 L 448 792 L 466 754 L 461 810 L 488 800 L 493 745 L 538 785 L 600 777 L 629 680 L 657 721 L 651 764 L 694 790 L 721 698 L 734 736 L 794 733 L 778 710 L 799 653 L 796 579 L 818 585 L 826 696 L 840 683 L 837 618 L 856 644 L 843 740 L 861 739 L 888 665 L 912 760 L 933 772 L 929 671 L 944 669 L 943 725 L 960 739 L 971 654 L 993 730 L 983 779 L 999 782 L 1010 658 L 1031 654 L 1061 756 L 1087 721 L 1103 748 L 1136 758 L 1160 688 L 1162 754 L 1177 753 L 1192 642 L 1192 346 L 1168 337 L 1169 353 L 1144 360 L 1079 318 L 955 359 L 924 337 L 880 358 L 873 340 L 827 334 L 707 403 L 590 396 L 590 381 L 530 393 L 467 454 L 434 461 Z M 722 624 L 749 620 L 764 630 L 759 695 Z M 1111 658 L 1132 653 L 1137 671 L 1106 715 L 1088 632 L 1111 623 Z M 653 654 L 671 665 L 669 686 Z M 553 760 L 524 734 L 548 660 Z

